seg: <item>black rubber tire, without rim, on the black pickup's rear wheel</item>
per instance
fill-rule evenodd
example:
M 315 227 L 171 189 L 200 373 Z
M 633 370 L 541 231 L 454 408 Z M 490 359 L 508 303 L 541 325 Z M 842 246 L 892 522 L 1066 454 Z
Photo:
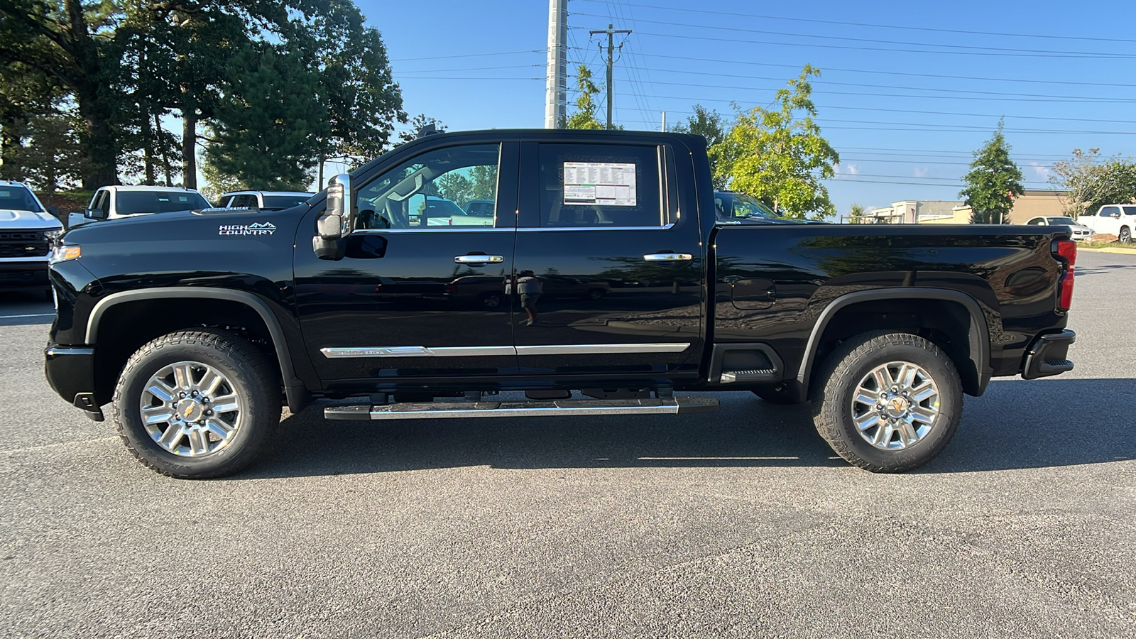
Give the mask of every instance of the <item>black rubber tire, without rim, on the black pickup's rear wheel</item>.
M 875 385 L 874 381 L 867 380 L 869 373 L 901 362 L 916 365 L 937 387 L 937 415 L 918 440 L 905 441 L 899 431 L 893 437 L 891 429 L 885 430 L 889 424 L 886 421 L 880 421 L 878 426 L 868 428 L 861 437 L 855 423 L 857 415 L 862 415 L 866 422 L 870 422 L 872 416 L 871 410 L 862 409 L 863 404 L 853 404 L 861 382 Z M 937 346 L 910 333 L 877 331 L 855 335 L 828 356 L 813 381 L 812 417 L 820 437 L 849 463 L 874 473 L 902 473 L 934 459 L 954 437 L 962 416 L 962 382 L 954 363 Z M 891 388 L 885 389 L 885 392 L 889 390 Z M 885 418 L 891 417 L 892 400 L 879 401 L 880 405 L 884 405 L 883 401 L 888 404 L 883 409 L 874 409 L 879 410 L 879 415 Z M 933 403 L 930 399 L 925 401 L 928 406 Z M 908 405 L 903 400 L 894 406 L 899 409 Z M 913 406 L 919 408 L 918 405 Z M 857 410 L 861 412 L 855 413 Z M 904 410 L 903 414 L 911 413 Z M 920 425 L 919 429 L 921 428 Z M 888 443 L 882 446 L 902 448 L 877 447 L 864 439 L 869 435 L 886 437 Z

